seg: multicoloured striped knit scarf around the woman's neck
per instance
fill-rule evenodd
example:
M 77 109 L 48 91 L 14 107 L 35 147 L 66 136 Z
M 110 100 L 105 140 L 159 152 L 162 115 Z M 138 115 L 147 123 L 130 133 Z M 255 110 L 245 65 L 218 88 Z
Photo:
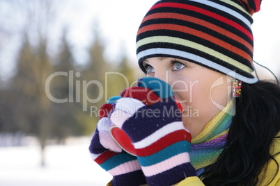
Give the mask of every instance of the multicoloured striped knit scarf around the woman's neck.
M 233 101 L 229 101 L 226 107 L 208 122 L 201 133 L 192 139 L 189 155 L 197 176 L 205 171 L 205 167 L 213 164 L 223 151 L 232 117 Z

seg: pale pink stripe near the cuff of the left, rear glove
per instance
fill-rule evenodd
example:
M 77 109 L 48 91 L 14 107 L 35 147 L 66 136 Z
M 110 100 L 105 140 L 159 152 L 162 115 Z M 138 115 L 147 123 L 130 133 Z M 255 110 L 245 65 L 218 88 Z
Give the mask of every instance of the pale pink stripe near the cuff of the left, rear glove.
M 138 160 L 133 160 L 130 162 L 125 162 L 123 164 L 118 165 L 117 167 L 114 167 L 113 169 L 109 170 L 109 174 L 113 176 L 117 176 L 120 174 L 126 174 L 128 172 L 137 171 L 140 170 L 141 166 L 139 164 Z

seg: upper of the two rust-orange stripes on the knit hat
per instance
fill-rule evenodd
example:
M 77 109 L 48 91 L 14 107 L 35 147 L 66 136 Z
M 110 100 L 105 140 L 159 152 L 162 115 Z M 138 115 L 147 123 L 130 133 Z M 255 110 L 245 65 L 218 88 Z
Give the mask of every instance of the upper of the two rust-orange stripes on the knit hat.
M 194 24 L 199 24 L 201 26 L 205 26 L 207 28 L 212 29 L 212 31 L 220 33 L 221 35 L 225 35 L 226 37 L 229 37 L 232 40 L 236 40 L 237 42 L 240 42 L 245 47 L 247 47 L 251 51 L 251 53 L 253 53 L 253 51 L 254 51 L 253 46 L 251 44 L 249 44 L 249 42 L 244 40 L 242 37 L 239 37 L 238 35 L 235 35 L 231 31 L 227 31 L 226 29 L 221 28 L 215 24 L 206 22 L 203 19 L 199 19 L 199 18 L 192 17 L 189 15 L 181 15 L 181 14 L 177 14 L 177 13 L 165 13 L 164 12 L 164 13 L 155 13 L 152 15 L 147 15 L 146 17 L 144 17 L 143 22 L 146 22 L 151 19 L 180 19 L 183 21 L 192 22 Z M 137 35 L 139 35 L 143 32 L 146 32 L 146 31 L 148 31 L 148 30 L 146 30 L 146 26 L 143 26 L 142 28 L 139 29 Z

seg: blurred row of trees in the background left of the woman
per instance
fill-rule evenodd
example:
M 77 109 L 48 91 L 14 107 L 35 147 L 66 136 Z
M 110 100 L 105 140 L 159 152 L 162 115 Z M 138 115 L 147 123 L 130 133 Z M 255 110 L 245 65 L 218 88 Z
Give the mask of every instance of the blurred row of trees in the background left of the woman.
M 50 31 L 61 16 L 62 2 L 65 3 L 0 0 L 0 55 L 15 35 L 19 41 L 13 58 L 0 58 L 8 64 L 15 64 L 13 74 L 8 78 L 0 74 L 0 145 L 5 146 L 5 137 L 11 135 L 15 141 L 10 145 L 22 145 L 21 139 L 26 135 L 37 137 L 42 150 L 42 165 L 45 164 L 47 144 L 63 144 L 69 136 L 91 135 L 98 121 L 91 111 L 99 109 L 110 96 L 119 95 L 139 74 L 136 65 L 131 65 L 125 46 L 116 60 L 106 58 L 107 46 L 95 20 L 92 20 L 93 39 L 86 49 L 88 57 L 85 62 L 77 61 L 75 46 L 67 37 L 67 26 L 62 25 L 56 31 L 60 37 L 56 40 L 57 47 L 52 48 L 54 37 Z M 67 74 L 52 76 L 56 72 Z M 123 75 L 105 76 L 106 72 Z M 49 87 L 45 87 L 48 77 L 53 78 L 49 79 Z M 51 101 L 47 89 L 54 98 L 67 100 L 63 101 L 65 103 Z M 107 97 L 104 97 L 105 91 Z M 93 100 L 100 101 L 91 103 Z

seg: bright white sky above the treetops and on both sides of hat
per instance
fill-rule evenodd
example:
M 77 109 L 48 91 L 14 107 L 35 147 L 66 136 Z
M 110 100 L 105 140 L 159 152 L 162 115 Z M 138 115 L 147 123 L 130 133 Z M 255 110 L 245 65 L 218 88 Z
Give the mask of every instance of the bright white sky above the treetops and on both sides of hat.
M 137 29 L 143 16 L 157 0 L 63 0 L 59 8 L 60 22 L 56 22 L 50 31 L 53 47 L 59 49 L 57 41 L 61 37 L 61 27 L 68 26 L 68 40 L 72 44 L 77 60 L 86 62 L 86 48 L 93 40 L 93 22 L 98 22 L 100 35 L 107 46 L 105 57 L 113 61 L 117 60 L 122 50 L 127 51 L 128 56 L 137 65 L 135 54 L 135 39 Z M 280 26 L 279 26 L 279 0 L 263 1 L 260 12 L 254 14 L 254 60 L 270 68 L 275 74 L 280 74 Z M 16 44 L 17 40 L 14 41 Z M 120 47 L 125 43 L 126 49 Z M 11 47 L 6 47 L 9 50 Z M 10 56 L 15 49 L 10 49 Z M 13 63 L 9 56 L 0 56 L 0 69 L 6 74 L 13 70 Z M 257 68 L 258 71 L 266 71 Z M 5 71 L 4 71 L 5 72 Z M 1 74 L 0 74 L 1 75 Z

